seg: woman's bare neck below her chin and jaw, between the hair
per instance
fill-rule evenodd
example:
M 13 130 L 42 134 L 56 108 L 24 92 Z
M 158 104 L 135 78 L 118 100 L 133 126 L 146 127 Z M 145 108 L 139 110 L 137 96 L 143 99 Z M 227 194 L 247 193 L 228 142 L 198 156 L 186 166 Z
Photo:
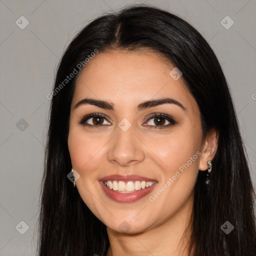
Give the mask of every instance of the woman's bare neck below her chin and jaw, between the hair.
M 193 200 L 188 200 L 161 225 L 141 233 L 120 233 L 106 228 L 109 238 L 107 256 L 187 256 L 191 234 Z M 191 253 L 189 253 L 191 255 Z

